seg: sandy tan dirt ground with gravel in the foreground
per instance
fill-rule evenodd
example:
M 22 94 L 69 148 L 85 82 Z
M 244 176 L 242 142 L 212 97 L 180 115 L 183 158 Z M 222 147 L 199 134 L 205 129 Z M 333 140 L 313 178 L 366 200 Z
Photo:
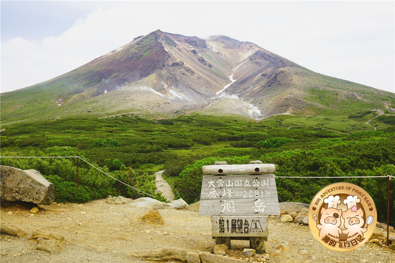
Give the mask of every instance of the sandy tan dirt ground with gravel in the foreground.
M 18 238 L 1 234 L 1 262 L 158 262 L 146 261 L 126 254 L 136 250 L 152 250 L 164 247 L 182 248 L 187 252 L 209 252 L 214 245 L 211 237 L 210 216 L 199 216 L 189 210 L 160 209 L 165 225 L 135 222 L 140 212 L 129 204 L 109 204 L 105 199 L 85 204 L 39 205 L 40 212 L 30 217 L 31 203 L 2 203 L 2 223 L 21 227 L 31 233 L 36 229 L 53 231 L 74 244 L 66 244 L 66 250 L 49 254 L 36 250 L 36 239 Z M 12 214 L 11 214 L 12 212 Z M 395 262 L 395 250 L 378 244 L 367 243 L 350 252 L 335 252 L 322 246 L 305 225 L 282 223 L 279 216 L 269 216 L 269 239 L 266 251 L 271 253 L 285 240 L 289 250 L 268 262 Z M 381 230 L 383 231 L 383 230 Z M 103 246 L 109 251 L 90 250 L 88 245 Z M 232 240 L 228 255 L 245 258 L 245 240 Z M 308 254 L 299 251 L 305 248 Z M 254 261 L 254 259 L 252 259 Z

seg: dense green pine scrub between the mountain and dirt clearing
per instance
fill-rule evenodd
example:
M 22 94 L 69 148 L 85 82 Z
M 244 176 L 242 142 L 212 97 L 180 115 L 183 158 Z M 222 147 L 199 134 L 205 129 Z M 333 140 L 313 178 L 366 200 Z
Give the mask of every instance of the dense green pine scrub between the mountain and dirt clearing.
M 201 167 L 214 161 L 245 164 L 262 160 L 276 165 L 278 199 L 310 203 L 324 186 L 352 182 L 374 199 L 378 220 L 386 221 L 386 178 L 395 175 L 393 116 L 376 113 L 301 117 L 278 115 L 261 121 L 240 117 L 180 115 L 173 119 L 138 117 L 75 118 L 2 127 L 2 156 L 76 156 L 105 173 L 154 195 L 155 171 L 164 167 L 175 195 L 198 201 Z M 373 122 L 373 121 L 372 121 Z M 372 123 L 371 122 L 371 123 Z M 382 128 L 380 128 L 382 127 Z M 190 148 L 193 147 L 193 148 Z M 197 148 L 200 147 L 200 148 Z M 169 149 L 171 148 L 171 149 Z M 82 203 L 107 195 L 147 196 L 76 158 L 1 158 L 2 165 L 36 169 L 55 184 L 56 200 Z M 339 177 L 339 178 L 299 178 Z M 395 183 L 390 185 L 390 220 L 395 224 Z M 166 201 L 159 194 L 156 198 Z

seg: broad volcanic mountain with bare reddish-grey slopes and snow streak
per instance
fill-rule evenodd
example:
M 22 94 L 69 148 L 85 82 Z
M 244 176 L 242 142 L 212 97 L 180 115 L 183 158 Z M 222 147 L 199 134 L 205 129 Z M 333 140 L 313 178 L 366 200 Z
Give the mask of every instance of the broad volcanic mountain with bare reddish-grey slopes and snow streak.
M 156 30 L 54 79 L 2 93 L 1 118 L 197 111 L 259 119 L 391 105 L 391 92 L 310 71 L 251 42 Z

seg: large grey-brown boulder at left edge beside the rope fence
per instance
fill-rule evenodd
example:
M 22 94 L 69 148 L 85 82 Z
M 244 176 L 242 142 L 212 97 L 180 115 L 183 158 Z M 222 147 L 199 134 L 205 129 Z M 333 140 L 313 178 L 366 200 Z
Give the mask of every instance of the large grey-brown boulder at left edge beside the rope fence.
M 0 198 L 2 202 L 24 201 L 51 205 L 55 187 L 36 170 L 0 166 Z

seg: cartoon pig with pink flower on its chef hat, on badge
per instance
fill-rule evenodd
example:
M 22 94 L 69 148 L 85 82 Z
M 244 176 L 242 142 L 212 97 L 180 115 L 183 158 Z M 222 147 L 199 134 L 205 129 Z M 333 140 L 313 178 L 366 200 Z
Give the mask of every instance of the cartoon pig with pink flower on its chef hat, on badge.
M 363 220 L 362 209 L 357 209 L 357 203 L 359 202 L 361 202 L 361 199 L 359 199 L 357 195 L 349 195 L 343 200 L 343 203 L 347 205 L 347 210 L 342 214 L 342 218 L 344 218 L 344 227 L 346 227 L 342 233 L 347 234 L 347 237 L 353 236 L 355 233 L 359 233 L 363 236 L 363 233 L 368 230 L 362 227 L 365 221 Z

